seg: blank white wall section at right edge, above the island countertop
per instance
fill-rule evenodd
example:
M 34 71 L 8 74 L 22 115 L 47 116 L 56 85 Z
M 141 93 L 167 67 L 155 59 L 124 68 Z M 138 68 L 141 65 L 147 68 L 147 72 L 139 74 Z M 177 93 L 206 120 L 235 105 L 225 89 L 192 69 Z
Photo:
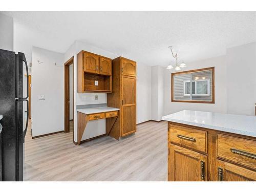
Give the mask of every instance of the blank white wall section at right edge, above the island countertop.
M 227 49 L 227 113 L 255 115 L 256 42 Z

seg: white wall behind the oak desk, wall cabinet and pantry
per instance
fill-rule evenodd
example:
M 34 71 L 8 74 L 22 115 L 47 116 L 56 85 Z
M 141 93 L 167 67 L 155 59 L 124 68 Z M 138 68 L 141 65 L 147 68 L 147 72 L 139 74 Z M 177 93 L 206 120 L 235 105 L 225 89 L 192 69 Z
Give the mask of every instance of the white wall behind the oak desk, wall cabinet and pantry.
M 74 141 L 77 142 L 77 113 L 76 105 L 106 103 L 105 93 L 77 93 L 77 53 L 81 50 L 89 51 L 109 58 L 116 58 L 116 55 L 106 50 L 90 46 L 84 42 L 75 41 L 74 44 L 65 53 L 64 60 L 68 60 L 74 56 Z M 125 57 L 125 55 L 122 55 Z M 130 58 L 133 59 L 133 58 Z M 146 72 L 146 73 L 145 73 Z M 137 123 L 151 119 L 151 68 L 148 66 L 140 66 L 137 63 Z M 98 95 L 98 100 L 94 100 L 94 96 Z M 95 137 L 105 133 L 105 119 L 95 120 L 87 123 L 86 131 L 82 136 L 82 140 Z

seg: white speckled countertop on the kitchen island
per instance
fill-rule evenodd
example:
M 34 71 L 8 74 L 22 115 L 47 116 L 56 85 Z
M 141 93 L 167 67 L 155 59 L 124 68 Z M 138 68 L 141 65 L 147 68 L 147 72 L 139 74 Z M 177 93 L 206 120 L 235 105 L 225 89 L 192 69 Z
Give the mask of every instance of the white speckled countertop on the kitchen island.
M 162 120 L 256 137 L 255 116 L 183 110 L 163 116 Z

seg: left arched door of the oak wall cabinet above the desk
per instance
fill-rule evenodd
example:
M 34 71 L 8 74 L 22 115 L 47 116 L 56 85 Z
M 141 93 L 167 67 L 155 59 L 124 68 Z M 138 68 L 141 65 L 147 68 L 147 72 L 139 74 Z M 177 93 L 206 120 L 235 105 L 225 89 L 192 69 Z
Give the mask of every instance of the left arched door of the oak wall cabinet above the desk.
M 83 70 L 88 73 L 99 73 L 99 57 L 94 54 L 83 54 Z

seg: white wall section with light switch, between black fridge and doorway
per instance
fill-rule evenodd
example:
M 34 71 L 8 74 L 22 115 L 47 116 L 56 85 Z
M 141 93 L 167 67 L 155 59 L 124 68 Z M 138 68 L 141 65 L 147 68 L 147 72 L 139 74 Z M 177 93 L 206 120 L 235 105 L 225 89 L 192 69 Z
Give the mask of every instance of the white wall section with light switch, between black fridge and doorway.
M 32 62 L 32 136 L 63 131 L 63 54 L 33 47 Z M 38 100 L 38 95 L 45 95 L 45 100 Z

